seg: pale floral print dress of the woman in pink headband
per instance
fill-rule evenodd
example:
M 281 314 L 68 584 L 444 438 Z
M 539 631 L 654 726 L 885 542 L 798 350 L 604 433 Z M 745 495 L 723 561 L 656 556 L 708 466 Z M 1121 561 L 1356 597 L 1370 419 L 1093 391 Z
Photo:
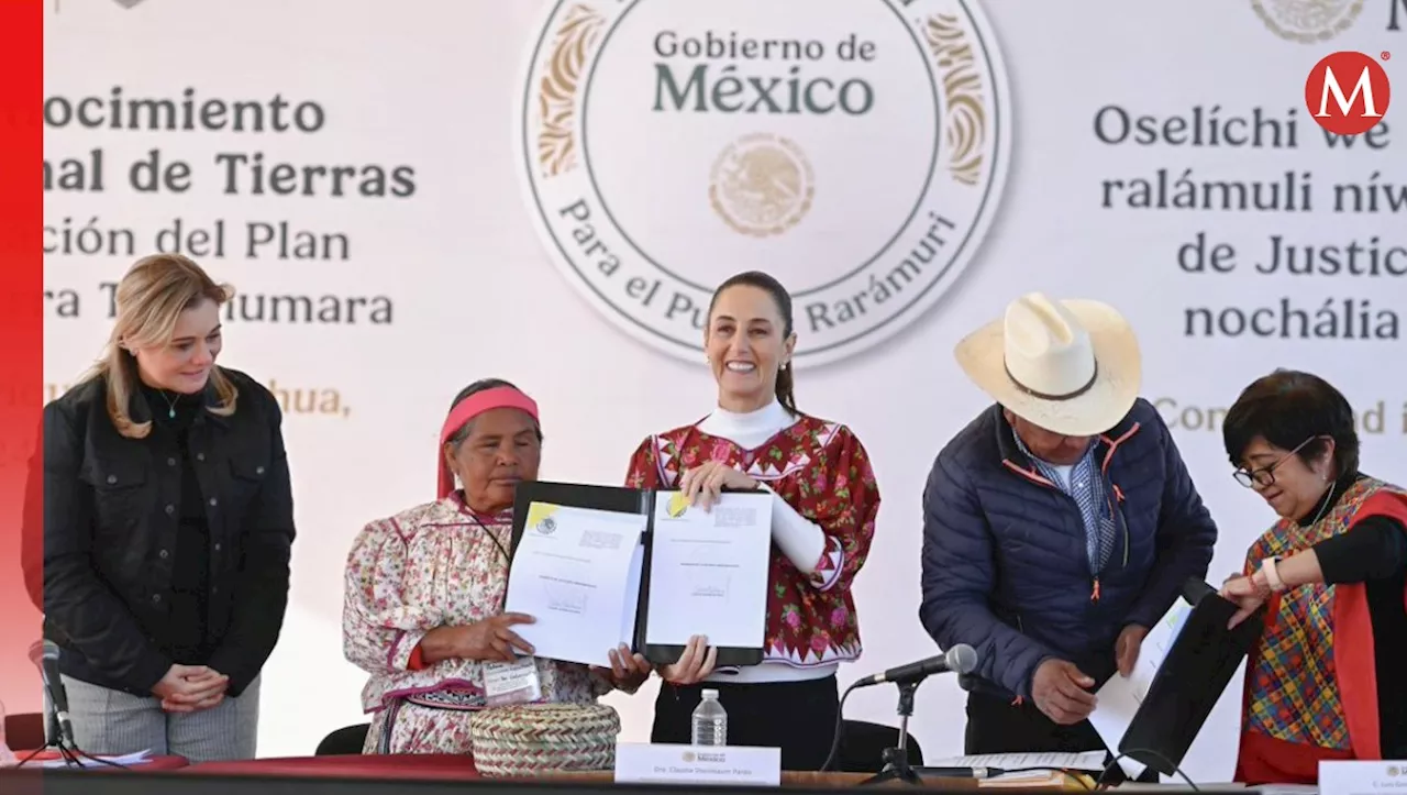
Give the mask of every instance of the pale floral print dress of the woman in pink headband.
M 342 613 L 346 659 L 370 674 L 364 753 L 471 754 L 469 719 L 485 708 L 483 663 L 425 664 L 418 646 L 439 626 L 502 612 L 512 515 L 478 515 L 456 492 L 357 535 Z M 575 663 L 536 660 L 542 702 L 594 704 L 611 682 Z

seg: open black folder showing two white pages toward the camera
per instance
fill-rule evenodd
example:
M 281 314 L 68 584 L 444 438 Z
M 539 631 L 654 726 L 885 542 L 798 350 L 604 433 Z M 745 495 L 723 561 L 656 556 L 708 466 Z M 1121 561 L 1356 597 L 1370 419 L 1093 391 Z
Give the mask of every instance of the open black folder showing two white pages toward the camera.
M 761 660 L 771 494 L 723 492 L 708 511 L 678 491 L 523 483 L 514 505 L 507 612 L 549 660 L 608 667 L 622 643 L 674 663 L 689 636 L 718 664 Z

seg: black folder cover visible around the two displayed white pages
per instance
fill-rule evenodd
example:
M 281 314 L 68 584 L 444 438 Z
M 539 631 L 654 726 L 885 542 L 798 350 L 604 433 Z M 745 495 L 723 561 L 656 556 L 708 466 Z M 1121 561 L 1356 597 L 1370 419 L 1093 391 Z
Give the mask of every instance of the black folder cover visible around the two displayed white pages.
M 615 514 L 644 515 L 644 533 L 640 543 L 644 545 L 644 568 L 640 573 L 640 594 L 636 609 L 635 643 L 632 651 L 644 654 L 644 659 L 668 666 L 678 663 L 684 654 L 684 646 L 657 644 L 646 642 L 646 628 L 650 618 L 650 563 L 654 550 L 654 504 L 658 492 L 653 490 L 623 488 L 613 485 L 588 485 L 578 483 L 552 481 L 523 481 L 518 484 L 514 494 L 514 528 L 512 547 L 509 556 L 518 553 L 518 545 L 523 538 L 528 525 L 528 508 L 533 502 L 561 505 L 571 508 L 590 508 L 594 511 L 611 511 Z M 716 667 L 756 666 L 763 661 L 763 647 L 719 647 Z

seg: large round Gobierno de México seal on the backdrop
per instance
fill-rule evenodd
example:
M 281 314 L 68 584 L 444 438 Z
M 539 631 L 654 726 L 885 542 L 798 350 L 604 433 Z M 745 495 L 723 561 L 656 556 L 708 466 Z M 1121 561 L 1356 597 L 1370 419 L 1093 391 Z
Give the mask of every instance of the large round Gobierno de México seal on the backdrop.
M 560 0 L 514 139 L 549 257 L 611 322 L 699 362 L 713 287 L 765 270 L 806 364 L 891 338 L 974 260 L 1010 115 L 975 0 Z

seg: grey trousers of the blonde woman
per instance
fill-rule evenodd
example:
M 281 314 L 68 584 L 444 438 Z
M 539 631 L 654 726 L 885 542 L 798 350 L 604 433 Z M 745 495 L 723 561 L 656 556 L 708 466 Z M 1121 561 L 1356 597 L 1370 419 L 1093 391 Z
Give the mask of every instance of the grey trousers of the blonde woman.
M 198 712 L 165 712 L 156 697 L 63 677 L 73 740 L 93 754 L 177 756 L 191 764 L 255 758 L 259 736 L 259 680 L 239 698 L 225 697 Z

